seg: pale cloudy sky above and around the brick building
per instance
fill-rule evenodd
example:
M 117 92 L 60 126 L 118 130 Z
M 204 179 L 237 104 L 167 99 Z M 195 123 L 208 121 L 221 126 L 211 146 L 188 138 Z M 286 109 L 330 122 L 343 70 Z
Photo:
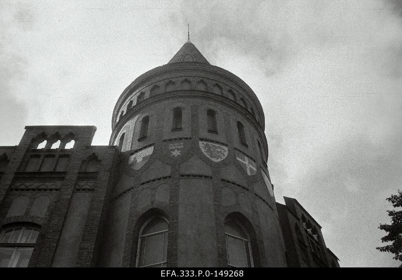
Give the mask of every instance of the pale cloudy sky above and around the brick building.
M 321 224 L 341 266 L 375 249 L 402 186 L 401 1 L 0 1 L 0 145 L 25 125 L 95 125 L 187 39 L 242 78 L 265 112 L 275 196 Z M 6 132 L 5 132 L 6 131 Z

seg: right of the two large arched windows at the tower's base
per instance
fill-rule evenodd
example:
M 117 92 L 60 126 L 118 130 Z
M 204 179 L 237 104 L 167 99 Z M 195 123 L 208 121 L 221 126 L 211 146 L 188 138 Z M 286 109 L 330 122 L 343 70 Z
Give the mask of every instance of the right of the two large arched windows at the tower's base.
M 226 220 L 225 235 L 228 264 L 234 267 L 252 267 L 250 237 L 241 223 L 234 219 Z

